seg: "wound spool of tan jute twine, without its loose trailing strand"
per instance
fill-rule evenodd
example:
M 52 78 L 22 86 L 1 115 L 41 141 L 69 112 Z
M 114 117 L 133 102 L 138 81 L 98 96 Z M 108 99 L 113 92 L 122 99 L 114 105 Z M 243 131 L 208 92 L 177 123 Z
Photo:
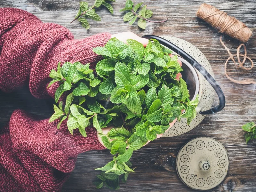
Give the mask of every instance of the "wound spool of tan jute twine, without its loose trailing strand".
M 243 43 L 246 43 L 252 36 L 252 31 L 243 22 L 235 17 L 229 16 L 226 12 L 220 11 L 212 5 L 202 4 L 196 15 L 217 29 Z

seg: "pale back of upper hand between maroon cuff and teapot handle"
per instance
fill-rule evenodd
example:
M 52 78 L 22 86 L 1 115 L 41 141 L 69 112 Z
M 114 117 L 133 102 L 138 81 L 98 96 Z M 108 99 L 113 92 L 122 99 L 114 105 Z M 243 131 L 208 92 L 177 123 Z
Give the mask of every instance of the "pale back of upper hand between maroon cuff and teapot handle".
M 140 42 L 141 44 L 143 44 L 144 47 L 146 47 L 148 44 L 148 39 L 139 37 L 130 31 L 123 32 L 123 33 L 117 33 L 117 34 L 114 34 L 111 36 L 111 38 L 114 38 L 114 37 L 116 37 L 120 41 L 123 41 L 126 44 L 127 44 L 127 39 L 134 39 L 134 40 Z

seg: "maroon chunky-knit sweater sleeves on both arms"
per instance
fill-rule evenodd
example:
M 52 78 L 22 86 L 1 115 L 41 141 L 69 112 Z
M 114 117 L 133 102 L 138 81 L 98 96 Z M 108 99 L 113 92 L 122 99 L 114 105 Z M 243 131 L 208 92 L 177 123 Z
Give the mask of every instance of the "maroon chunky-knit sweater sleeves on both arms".
M 58 62 L 95 63 L 100 56 L 93 47 L 104 46 L 111 38 L 101 33 L 75 40 L 57 24 L 42 23 L 36 16 L 14 8 L 0 8 L 0 89 L 12 92 L 29 83 L 36 98 L 53 97 L 58 83 L 49 89 L 49 73 Z M 79 153 L 104 147 L 93 127 L 87 137 L 74 132 L 66 121 L 57 130 L 57 121 L 40 119 L 15 110 L 9 124 L 0 129 L 0 191 L 60 191 Z

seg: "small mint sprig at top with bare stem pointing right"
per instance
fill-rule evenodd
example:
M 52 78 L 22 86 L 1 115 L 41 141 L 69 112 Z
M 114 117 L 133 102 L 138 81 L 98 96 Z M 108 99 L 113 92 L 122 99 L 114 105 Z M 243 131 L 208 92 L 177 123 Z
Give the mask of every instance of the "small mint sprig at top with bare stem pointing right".
M 140 6 L 143 3 L 139 3 L 136 4 L 135 6 L 133 6 L 133 2 L 131 0 L 126 0 L 126 4 L 125 7 L 123 9 L 120 10 L 120 12 L 122 11 L 129 11 L 124 15 L 124 22 L 130 21 L 130 25 L 132 25 L 136 19 L 138 18 L 138 26 L 142 29 L 146 28 L 146 21 L 148 22 L 152 22 L 152 23 L 163 23 L 168 19 L 165 19 L 163 21 L 151 21 L 148 20 L 148 18 L 152 17 L 153 12 L 149 9 L 147 9 L 147 5 L 144 5 L 142 7 L 142 9 L 140 10 L 140 12 L 137 14 L 137 10 L 140 9 Z

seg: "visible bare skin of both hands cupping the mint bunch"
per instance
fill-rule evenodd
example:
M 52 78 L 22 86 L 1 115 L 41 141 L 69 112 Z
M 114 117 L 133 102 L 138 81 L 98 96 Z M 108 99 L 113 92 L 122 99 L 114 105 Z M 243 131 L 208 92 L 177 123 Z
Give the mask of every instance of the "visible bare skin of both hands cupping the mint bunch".
M 128 32 L 123 32 L 123 33 L 117 33 L 117 34 L 114 34 L 114 35 L 111 36 L 111 38 L 114 38 L 114 37 L 116 37 L 116 38 L 117 38 L 118 40 L 120 40 L 120 41 L 123 41 L 124 43 L 127 43 L 127 42 L 126 42 L 127 39 L 133 39 L 133 40 L 136 40 L 136 41 L 140 42 L 141 44 L 143 44 L 144 47 L 146 47 L 147 44 L 148 44 L 148 39 L 139 37 L 139 36 L 135 35 L 134 33 L 130 32 L 130 31 L 128 31 Z M 173 57 L 172 54 L 169 54 L 169 56 L 170 56 L 170 57 Z M 181 63 L 181 61 L 180 61 L 179 59 L 178 59 L 178 62 L 180 63 L 180 66 L 181 66 L 182 63 Z M 178 74 L 176 75 L 176 78 L 175 78 L 175 79 L 177 79 L 177 80 L 179 81 L 179 80 L 180 80 L 180 77 L 181 77 L 181 74 L 178 73 Z M 173 122 L 171 122 L 171 123 L 170 123 L 170 127 L 169 127 L 165 132 L 168 132 L 168 130 L 172 127 L 172 125 L 173 125 L 176 121 L 177 121 L 177 119 L 175 119 Z M 110 129 L 112 129 L 112 128 L 114 128 L 113 125 L 108 126 L 108 127 L 105 127 L 105 128 L 102 128 L 103 134 L 107 134 L 108 131 L 109 131 Z M 98 132 L 98 131 L 97 131 L 97 136 L 98 136 L 98 139 L 99 139 L 99 141 L 100 141 L 100 144 L 104 146 L 104 144 L 103 144 L 101 138 L 99 137 L 99 132 Z M 157 139 L 158 139 L 158 138 L 161 138 L 162 136 L 163 136 L 163 134 L 158 134 L 158 135 L 157 135 Z M 149 143 L 149 141 L 148 141 L 145 145 L 147 145 L 148 143 Z M 144 146 L 145 146 L 145 145 L 144 145 Z M 105 147 L 105 146 L 104 146 L 104 147 Z

